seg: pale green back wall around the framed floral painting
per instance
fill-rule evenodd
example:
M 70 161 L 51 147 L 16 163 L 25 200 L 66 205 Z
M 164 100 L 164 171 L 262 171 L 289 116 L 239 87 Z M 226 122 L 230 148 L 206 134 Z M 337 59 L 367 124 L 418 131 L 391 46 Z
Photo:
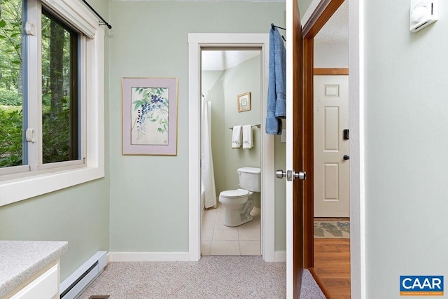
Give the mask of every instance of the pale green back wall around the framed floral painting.
M 188 33 L 268 33 L 272 22 L 285 24 L 285 4 L 110 1 L 109 6 L 110 249 L 187 252 Z M 176 156 L 121 155 L 123 77 L 179 78 Z M 286 211 L 278 212 L 284 221 Z M 282 238 L 277 244 L 276 237 L 276 250 L 286 248 Z

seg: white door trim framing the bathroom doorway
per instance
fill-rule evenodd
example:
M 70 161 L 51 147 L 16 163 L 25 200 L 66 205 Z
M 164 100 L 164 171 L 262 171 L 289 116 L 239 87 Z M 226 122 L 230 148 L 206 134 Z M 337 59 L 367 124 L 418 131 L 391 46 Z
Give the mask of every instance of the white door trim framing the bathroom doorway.
M 200 78 L 201 48 L 260 48 L 262 55 L 261 246 L 262 258 L 275 261 L 274 136 L 264 134 L 269 70 L 269 34 L 188 34 L 188 252 L 201 257 Z

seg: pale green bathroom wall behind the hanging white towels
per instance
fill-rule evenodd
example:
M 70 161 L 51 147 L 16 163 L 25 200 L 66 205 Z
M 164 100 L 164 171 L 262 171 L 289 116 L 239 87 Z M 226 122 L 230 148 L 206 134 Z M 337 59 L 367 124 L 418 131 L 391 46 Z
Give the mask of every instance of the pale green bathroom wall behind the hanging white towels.
M 210 76 L 209 76 L 210 73 Z M 216 181 L 216 194 L 223 190 L 238 188 L 237 169 L 240 167 L 261 167 L 261 130 L 253 127 L 253 148 L 244 150 L 232 149 L 232 130 L 234 125 L 256 125 L 261 122 L 261 57 L 253 57 L 246 62 L 223 71 L 222 76 L 216 77 L 216 71 L 202 72 L 202 88 L 204 95 L 211 104 L 211 141 L 214 149 L 214 173 Z M 204 78 L 209 78 L 204 80 Z M 222 80 L 223 78 L 223 80 Z M 215 81 L 213 80 L 215 79 Z M 214 81 L 214 82 L 213 82 Z M 207 83 L 213 84 L 211 89 Z M 223 85 L 223 86 L 219 86 Z M 223 95 L 213 97 L 214 91 L 223 90 Z M 211 90 L 211 96 L 205 90 Z M 251 110 L 238 112 L 237 95 L 251 92 Z M 221 101 L 221 102 L 220 102 Z M 216 104 L 216 108 L 214 108 Z M 221 118 L 224 121 L 214 126 L 213 119 Z M 260 200 L 255 200 L 255 207 L 260 208 Z

